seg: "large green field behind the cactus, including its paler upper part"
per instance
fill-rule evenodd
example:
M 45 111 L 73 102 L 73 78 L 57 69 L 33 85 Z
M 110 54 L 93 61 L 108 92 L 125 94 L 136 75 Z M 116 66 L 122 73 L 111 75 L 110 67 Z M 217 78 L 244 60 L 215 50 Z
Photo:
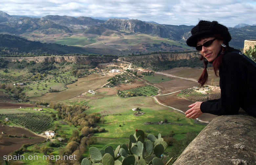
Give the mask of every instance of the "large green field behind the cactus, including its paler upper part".
M 97 124 L 101 128 L 105 128 L 106 132 L 94 134 L 98 142 L 91 145 L 91 147 L 95 146 L 99 149 L 104 149 L 108 145 L 115 148 L 123 143 L 128 144 L 128 137 L 130 134 L 134 134 L 135 129 L 141 129 L 144 132 L 149 130 L 150 134 L 158 135 L 160 133 L 163 136 L 172 130 L 175 134 L 174 137 L 179 140 L 183 139 L 187 132 L 200 132 L 205 127 L 194 124 L 194 120 L 186 118 L 183 113 L 157 104 L 152 97 L 120 98 L 112 96 L 90 100 L 86 105 L 91 107 L 85 111 L 86 114 L 98 112 L 101 115 L 106 115 L 105 123 Z M 132 108 L 137 107 L 141 108 L 141 112 L 145 112 L 145 114 L 134 116 Z M 172 124 L 144 125 L 145 122 L 164 121 L 164 119 Z M 86 155 L 88 155 L 88 151 L 86 151 Z

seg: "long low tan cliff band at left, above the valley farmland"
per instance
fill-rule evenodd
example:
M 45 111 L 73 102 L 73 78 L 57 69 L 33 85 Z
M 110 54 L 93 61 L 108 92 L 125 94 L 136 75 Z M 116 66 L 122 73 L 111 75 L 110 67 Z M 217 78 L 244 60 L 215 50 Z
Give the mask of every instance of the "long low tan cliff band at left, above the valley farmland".
M 96 63 L 108 63 L 113 60 L 113 57 L 96 57 L 96 56 L 38 56 L 38 57 L 0 57 L 0 60 L 7 60 L 10 62 L 15 61 L 35 61 L 38 62 L 72 62 L 75 64 L 90 64 Z

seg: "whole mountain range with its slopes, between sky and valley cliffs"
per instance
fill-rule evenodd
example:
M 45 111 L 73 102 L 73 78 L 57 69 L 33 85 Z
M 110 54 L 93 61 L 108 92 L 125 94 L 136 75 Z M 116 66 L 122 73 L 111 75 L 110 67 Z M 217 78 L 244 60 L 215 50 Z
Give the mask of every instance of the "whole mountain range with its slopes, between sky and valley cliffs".
M 98 48 L 101 51 L 112 49 L 114 54 L 117 54 L 118 50 L 146 52 L 157 49 L 162 51 L 193 49 L 185 44 L 186 39 L 191 35 L 190 31 L 193 27 L 161 25 L 137 19 L 110 18 L 108 20 L 100 20 L 83 16 L 75 18 L 72 16 L 47 15 L 42 18 L 18 18 L 0 11 L 1 34 L 18 35 L 32 41 L 45 43 L 64 43 L 64 45 L 69 39 L 66 45 L 73 44 L 72 46 Z M 229 45 L 238 49 L 244 47 L 244 40 L 256 38 L 256 26 L 239 24 L 236 28 L 229 28 L 229 32 L 232 36 Z M 138 38 L 142 35 L 145 37 L 143 42 L 137 41 L 133 43 L 134 38 L 139 40 Z M 127 38 L 127 36 L 129 37 Z M 155 36 L 159 38 L 156 39 L 154 38 Z M 73 43 L 70 42 L 71 39 L 75 40 L 79 37 L 84 37 L 83 40 L 81 39 L 83 42 L 85 42 L 85 39 L 92 38 L 92 40 L 76 45 L 74 41 L 72 41 Z M 160 43 L 160 40 L 165 42 Z M 166 45 L 170 48 L 166 47 Z

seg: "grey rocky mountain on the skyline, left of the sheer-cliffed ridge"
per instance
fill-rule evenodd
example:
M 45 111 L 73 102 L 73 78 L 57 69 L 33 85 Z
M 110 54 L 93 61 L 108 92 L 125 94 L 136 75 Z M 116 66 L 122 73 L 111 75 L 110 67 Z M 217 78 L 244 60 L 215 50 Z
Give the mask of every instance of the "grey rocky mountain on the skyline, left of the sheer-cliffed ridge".
M 91 17 L 71 17 L 71 16 L 59 16 L 59 15 L 47 15 L 42 20 L 52 21 L 55 24 L 66 26 L 75 29 L 85 29 L 89 25 L 98 25 L 104 21 L 93 19 Z

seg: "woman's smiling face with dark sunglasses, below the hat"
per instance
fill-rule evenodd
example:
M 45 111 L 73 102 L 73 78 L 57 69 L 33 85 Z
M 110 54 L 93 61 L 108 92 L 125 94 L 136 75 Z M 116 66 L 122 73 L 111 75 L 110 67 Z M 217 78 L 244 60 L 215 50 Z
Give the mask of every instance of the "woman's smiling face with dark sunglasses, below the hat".
M 221 44 L 223 43 L 220 39 L 215 39 L 215 37 L 208 37 L 204 38 L 201 41 L 197 42 L 197 46 L 202 46 L 202 50 L 199 52 L 203 55 L 204 58 L 206 58 L 209 62 L 212 62 L 215 60 L 215 58 L 218 56 L 218 53 L 221 51 L 222 47 Z M 214 40 L 212 44 L 210 40 Z M 208 43 L 206 43 L 209 41 Z M 206 43 L 206 46 L 203 46 L 203 44 Z M 208 46 L 209 45 L 209 46 Z

